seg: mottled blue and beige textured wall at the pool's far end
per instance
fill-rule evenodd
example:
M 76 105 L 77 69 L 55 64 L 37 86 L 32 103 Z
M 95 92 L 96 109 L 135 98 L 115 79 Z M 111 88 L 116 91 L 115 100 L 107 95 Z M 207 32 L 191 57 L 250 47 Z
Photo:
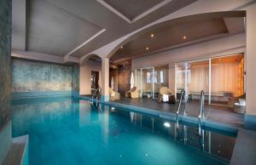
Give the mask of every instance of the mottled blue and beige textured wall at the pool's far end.
M 59 65 L 30 60 L 12 60 L 12 92 L 79 90 L 76 65 Z

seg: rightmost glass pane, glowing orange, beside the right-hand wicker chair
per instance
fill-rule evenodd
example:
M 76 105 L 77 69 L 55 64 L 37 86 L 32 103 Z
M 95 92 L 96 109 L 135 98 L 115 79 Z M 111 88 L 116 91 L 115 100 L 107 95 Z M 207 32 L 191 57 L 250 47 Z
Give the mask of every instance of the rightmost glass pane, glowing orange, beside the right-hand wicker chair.
M 244 93 L 243 54 L 212 59 L 212 104 L 227 105 Z

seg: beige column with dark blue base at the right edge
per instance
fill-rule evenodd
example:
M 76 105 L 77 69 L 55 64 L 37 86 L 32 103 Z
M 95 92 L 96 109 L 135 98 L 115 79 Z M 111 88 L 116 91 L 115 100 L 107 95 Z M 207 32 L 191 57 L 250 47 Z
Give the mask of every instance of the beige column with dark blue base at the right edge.
M 247 107 L 245 115 L 245 126 L 248 129 L 256 130 L 256 4 L 247 8 Z

